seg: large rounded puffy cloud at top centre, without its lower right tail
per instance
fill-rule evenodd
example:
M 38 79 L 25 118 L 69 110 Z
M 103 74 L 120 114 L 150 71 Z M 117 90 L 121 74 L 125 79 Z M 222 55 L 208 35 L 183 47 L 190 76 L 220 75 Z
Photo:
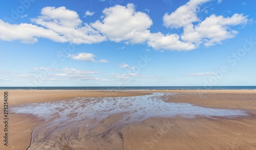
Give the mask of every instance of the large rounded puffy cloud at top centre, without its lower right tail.
M 103 10 L 104 18 L 91 24 L 111 41 L 141 43 L 150 35 L 153 22 L 145 13 L 136 12 L 133 4 L 116 5 Z

